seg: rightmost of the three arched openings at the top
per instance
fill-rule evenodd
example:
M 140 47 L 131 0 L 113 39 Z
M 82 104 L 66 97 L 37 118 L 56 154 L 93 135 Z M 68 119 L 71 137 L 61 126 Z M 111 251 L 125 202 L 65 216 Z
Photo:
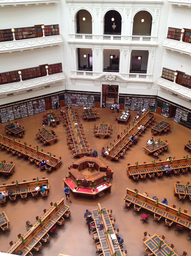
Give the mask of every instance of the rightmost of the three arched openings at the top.
M 150 36 L 152 28 L 152 16 L 147 11 L 140 11 L 134 15 L 133 35 Z

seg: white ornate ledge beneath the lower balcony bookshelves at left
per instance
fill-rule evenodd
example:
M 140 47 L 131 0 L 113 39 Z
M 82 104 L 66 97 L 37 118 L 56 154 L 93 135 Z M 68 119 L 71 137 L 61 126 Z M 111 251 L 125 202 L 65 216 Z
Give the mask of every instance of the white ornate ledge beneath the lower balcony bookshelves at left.
M 65 73 L 52 74 L 49 76 L 42 76 L 22 82 L 2 84 L 0 85 L 0 94 L 6 94 L 15 91 L 23 91 L 32 89 L 39 86 L 45 86 L 47 84 L 61 82 L 65 79 Z

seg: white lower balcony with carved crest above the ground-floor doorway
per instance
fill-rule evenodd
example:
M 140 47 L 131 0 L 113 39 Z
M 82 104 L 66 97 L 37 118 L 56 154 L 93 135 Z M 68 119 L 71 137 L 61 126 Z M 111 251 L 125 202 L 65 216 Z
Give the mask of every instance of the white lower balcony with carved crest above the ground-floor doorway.
M 115 80 L 122 79 L 123 81 L 139 81 L 152 83 L 152 75 L 148 74 L 135 74 L 135 73 L 127 73 L 120 74 L 118 72 L 93 72 L 93 71 L 71 71 L 71 78 L 81 78 L 81 79 L 99 79 L 102 78 L 105 80 Z

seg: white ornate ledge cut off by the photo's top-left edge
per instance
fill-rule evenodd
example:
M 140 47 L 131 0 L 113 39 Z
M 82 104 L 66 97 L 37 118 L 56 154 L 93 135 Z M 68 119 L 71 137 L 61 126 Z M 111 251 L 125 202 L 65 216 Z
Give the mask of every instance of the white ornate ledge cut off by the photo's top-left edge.
M 40 4 L 49 4 L 49 3 L 59 3 L 60 0 L 0 0 L 0 7 L 8 5 L 39 5 Z

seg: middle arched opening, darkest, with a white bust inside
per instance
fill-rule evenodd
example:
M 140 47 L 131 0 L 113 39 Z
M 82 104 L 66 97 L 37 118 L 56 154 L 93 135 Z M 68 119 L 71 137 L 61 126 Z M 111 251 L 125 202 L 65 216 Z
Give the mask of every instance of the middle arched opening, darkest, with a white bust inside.
M 104 35 L 121 35 L 121 15 L 115 10 L 105 13 Z

